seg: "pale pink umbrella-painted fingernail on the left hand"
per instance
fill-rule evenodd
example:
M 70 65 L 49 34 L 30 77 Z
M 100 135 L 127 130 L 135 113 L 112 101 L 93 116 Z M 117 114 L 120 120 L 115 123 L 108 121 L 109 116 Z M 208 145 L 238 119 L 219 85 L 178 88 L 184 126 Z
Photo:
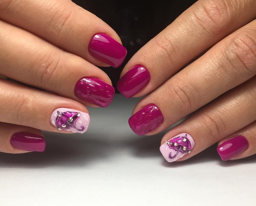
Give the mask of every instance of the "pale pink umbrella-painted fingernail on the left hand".
M 90 124 L 90 116 L 78 110 L 58 108 L 52 113 L 50 121 L 58 130 L 85 133 Z

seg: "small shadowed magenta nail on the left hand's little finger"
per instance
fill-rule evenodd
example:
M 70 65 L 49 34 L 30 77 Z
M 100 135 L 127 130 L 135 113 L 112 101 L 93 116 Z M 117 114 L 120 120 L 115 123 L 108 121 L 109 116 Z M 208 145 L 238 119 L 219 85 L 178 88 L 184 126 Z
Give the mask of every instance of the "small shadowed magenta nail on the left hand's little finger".
M 11 144 L 17 149 L 31 152 L 44 152 L 45 150 L 44 137 L 26 132 L 14 133 L 11 137 Z

